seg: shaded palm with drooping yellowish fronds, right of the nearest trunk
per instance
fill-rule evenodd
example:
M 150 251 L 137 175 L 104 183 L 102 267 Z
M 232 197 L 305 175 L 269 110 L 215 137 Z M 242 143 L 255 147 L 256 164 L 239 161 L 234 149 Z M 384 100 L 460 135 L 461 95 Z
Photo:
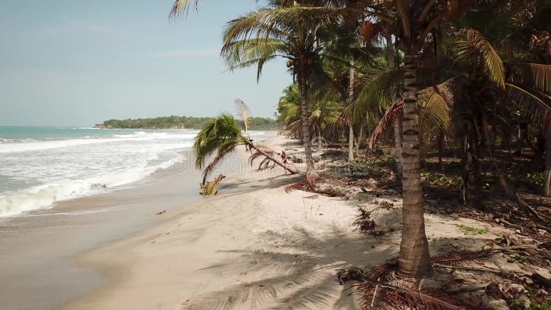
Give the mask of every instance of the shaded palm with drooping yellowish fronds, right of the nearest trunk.
M 490 134 L 486 128 L 506 127 L 516 118 L 519 123 L 535 123 L 546 130 L 551 124 L 551 66 L 529 63 L 519 52 L 513 61 L 502 61 L 500 50 L 472 28 L 455 32 L 450 40 L 442 57 L 453 66 L 438 66 L 450 78 L 419 92 L 421 132 L 427 140 L 455 127 L 464 145 L 464 199 L 471 207 L 481 207 L 478 194 L 484 174 L 479 158 Z M 388 126 L 389 118 L 399 118 L 401 109 L 403 103 L 393 105 L 372 140 Z

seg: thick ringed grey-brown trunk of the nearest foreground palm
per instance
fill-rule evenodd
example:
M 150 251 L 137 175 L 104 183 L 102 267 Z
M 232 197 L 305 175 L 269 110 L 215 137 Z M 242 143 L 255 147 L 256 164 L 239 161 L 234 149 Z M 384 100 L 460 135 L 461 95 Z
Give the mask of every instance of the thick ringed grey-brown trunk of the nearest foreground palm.
M 399 269 L 404 276 L 420 278 L 430 271 L 425 234 L 423 188 L 419 171 L 419 114 L 417 112 L 417 57 L 406 52 L 404 64 L 404 145 L 402 163 L 404 202 Z

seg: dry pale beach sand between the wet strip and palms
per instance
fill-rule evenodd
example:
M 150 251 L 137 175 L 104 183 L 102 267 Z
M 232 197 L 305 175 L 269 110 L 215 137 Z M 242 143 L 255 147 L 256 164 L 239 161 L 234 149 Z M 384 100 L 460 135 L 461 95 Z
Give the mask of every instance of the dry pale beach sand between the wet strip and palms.
M 277 150 L 300 150 L 280 136 L 267 139 Z M 79 256 L 107 282 L 65 309 L 357 309 L 360 296 L 337 282 L 337 269 L 397 256 L 401 212 L 377 213 L 377 223 L 395 232 L 367 236 L 353 225 L 365 201 L 285 192 L 301 178 L 280 167 L 229 175 L 218 196 L 185 215 L 167 213 L 167 223 Z M 401 203 L 396 195 L 377 199 Z M 489 238 L 457 238 L 456 223 L 426 216 L 433 254 L 446 242 Z

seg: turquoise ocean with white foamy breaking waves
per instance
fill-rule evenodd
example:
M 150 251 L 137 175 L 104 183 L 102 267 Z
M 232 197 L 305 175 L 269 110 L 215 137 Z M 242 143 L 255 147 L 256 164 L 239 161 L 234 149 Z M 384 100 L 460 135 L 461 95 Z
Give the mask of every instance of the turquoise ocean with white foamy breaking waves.
M 186 161 L 196 134 L 0 126 L 0 218 L 131 185 Z

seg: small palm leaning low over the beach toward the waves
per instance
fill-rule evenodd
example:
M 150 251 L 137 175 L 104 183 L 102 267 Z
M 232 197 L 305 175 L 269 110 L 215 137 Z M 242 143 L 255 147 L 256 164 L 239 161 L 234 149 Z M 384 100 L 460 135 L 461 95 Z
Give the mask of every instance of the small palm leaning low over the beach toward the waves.
M 298 169 L 293 165 L 283 163 L 278 158 L 265 151 L 264 147 L 254 145 L 249 137 L 241 132 L 237 121 L 230 114 L 220 114 L 217 118 L 210 121 L 202 127 L 194 141 L 194 151 L 196 154 L 195 165 L 198 169 L 203 169 L 202 184 L 207 181 L 207 177 L 214 171 L 224 158 L 233 154 L 238 145 L 247 145 L 247 147 L 256 150 L 273 163 L 280 165 L 291 174 L 298 174 Z M 208 165 L 207 159 L 211 158 Z

